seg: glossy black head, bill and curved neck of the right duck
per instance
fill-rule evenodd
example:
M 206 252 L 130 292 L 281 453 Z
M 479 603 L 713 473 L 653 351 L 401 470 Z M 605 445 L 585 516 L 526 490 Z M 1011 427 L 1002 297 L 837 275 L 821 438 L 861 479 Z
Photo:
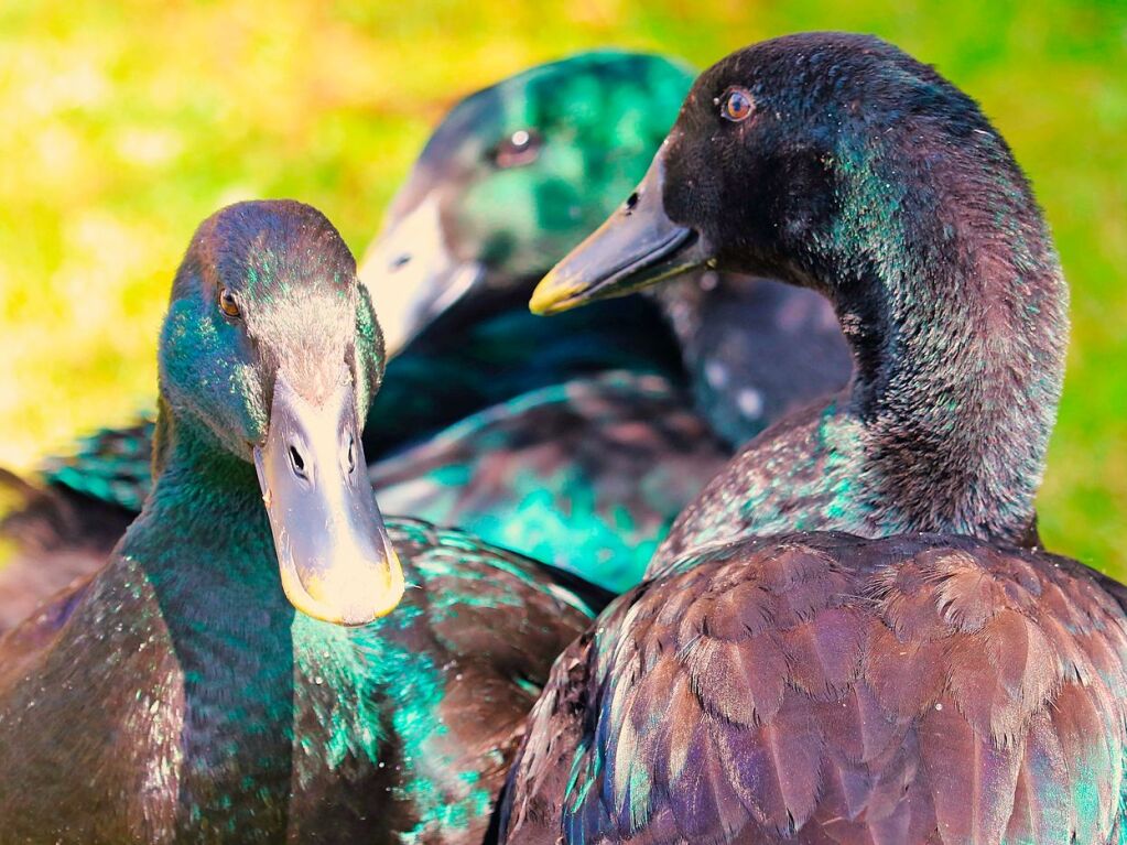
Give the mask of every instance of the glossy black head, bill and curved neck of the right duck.
M 531 306 L 561 311 L 701 264 L 833 302 L 867 496 L 897 525 L 1028 535 L 1068 294 L 1023 174 L 969 97 L 868 36 L 735 53 L 696 80 L 636 194 Z

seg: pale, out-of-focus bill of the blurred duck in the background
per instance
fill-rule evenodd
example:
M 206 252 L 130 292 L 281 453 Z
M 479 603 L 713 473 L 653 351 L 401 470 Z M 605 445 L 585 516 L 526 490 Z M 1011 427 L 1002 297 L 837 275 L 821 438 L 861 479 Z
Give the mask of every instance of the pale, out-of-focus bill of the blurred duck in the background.
M 451 252 L 431 194 L 380 233 L 357 276 L 380 303 L 383 343 L 394 355 L 481 282 L 485 267 Z

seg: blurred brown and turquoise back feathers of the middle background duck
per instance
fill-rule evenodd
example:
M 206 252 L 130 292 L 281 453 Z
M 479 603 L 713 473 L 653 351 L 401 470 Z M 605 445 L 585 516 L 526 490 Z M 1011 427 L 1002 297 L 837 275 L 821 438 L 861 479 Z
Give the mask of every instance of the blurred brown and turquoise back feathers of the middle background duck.
M 621 593 L 726 460 L 668 379 L 611 371 L 476 413 L 370 475 L 392 513 L 473 526 Z

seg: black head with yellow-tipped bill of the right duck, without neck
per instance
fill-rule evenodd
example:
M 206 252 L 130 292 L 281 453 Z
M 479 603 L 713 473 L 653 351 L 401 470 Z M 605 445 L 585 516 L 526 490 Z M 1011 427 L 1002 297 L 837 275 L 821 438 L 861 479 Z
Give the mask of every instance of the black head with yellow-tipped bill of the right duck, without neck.
M 973 195 L 979 178 L 1038 223 L 1004 141 L 932 68 L 871 36 L 756 44 L 701 74 L 637 189 L 541 282 L 531 309 L 565 311 L 709 266 L 815 287 L 841 313 L 871 293 L 859 279 L 887 278 L 913 237 L 955 237 L 912 219 L 908 193 L 938 207 L 952 190 Z

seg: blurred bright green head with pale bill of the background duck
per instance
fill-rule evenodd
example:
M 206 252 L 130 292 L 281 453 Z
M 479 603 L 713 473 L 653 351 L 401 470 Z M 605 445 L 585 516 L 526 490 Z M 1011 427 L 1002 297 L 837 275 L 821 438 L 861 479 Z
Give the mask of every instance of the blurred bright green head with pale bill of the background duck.
M 454 106 L 361 263 L 389 352 L 458 303 L 523 302 L 645 172 L 692 79 L 656 55 L 586 53 Z

